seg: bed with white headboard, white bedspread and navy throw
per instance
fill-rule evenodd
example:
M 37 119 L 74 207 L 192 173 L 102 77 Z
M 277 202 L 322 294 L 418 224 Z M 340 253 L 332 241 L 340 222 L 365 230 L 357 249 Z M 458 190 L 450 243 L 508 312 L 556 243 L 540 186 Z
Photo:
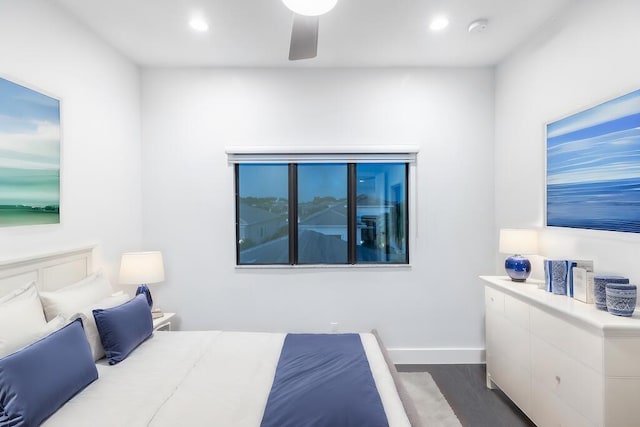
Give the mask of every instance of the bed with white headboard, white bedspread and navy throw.
M 0 263 L 0 310 L 3 298 L 24 287 L 25 283 L 34 281 L 43 298 L 45 314 L 48 314 L 50 306 L 45 303 L 48 300 L 44 299 L 44 295 L 58 298 L 71 288 L 70 284 L 82 283 L 94 277 L 92 254 L 93 247 L 87 247 Z M 112 308 L 106 307 L 104 312 L 112 315 L 116 310 L 122 310 L 121 307 L 135 304 L 136 298 L 114 305 L 120 303 L 122 298 L 122 295 L 109 295 L 107 299 Z M 92 307 L 95 309 L 96 305 Z M 97 309 L 100 313 L 102 310 Z M 104 331 L 100 329 L 101 320 L 96 316 L 100 338 L 105 343 L 105 337 L 102 336 Z M 56 316 L 55 319 L 59 321 L 60 317 Z M 49 393 L 58 398 L 59 394 L 64 393 L 58 393 L 54 388 L 54 380 L 41 381 L 36 384 L 37 387 L 33 383 L 29 387 L 20 385 L 23 382 L 21 375 L 24 377 L 26 372 L 18 371 L 23 369 L 32 372 L 33 369 L 12 366 L 33 366 L 33 363 L 39 366 L 41 363 L 21 365 L 15 364 L 14 359 L 29 353 L 30 360 L 38 360 L 38 357 L 41 358 L 39 352 L 44 351 L 48 354 L 60 353 L 59 357 L 64 359 L 62 363 L 72 365 L 69 368 L 73 369 L 71 374 L 53 374 L 63 377 L 63 381 L 82 369 L 80 366 L 84 366 L 87 372 L 95 369 L 97 377 L 89 378 L 85 381 L 87 384 L 76 385 L 76 389 L 68 391 L 69 399 L 65 399 L 61 406 L 54 402 L 52 414 L 45 413 L 43 416 L 42 425 L 47 427 L 338 427 L 418 424 L 412 415 L 414 409 L 410 406 L 411 402 L 402 388 L 398 389 L 394 368 L 373 333 L 156 331 L 150 337 L 141 339 L 122 360 L 110 364 L 114 353 L 108 348 L 109 344 L 104 345 L 106 358 L 94 351 L 95 343 L 91 343 L 91 340 L 97 338 L 89 336 L 90 328 L 87 325 L 90 319 L 80 317 L 84 327 L 80 329 L 75 325 L 80 324 L 78 317 L 72 317 L 65 318 L 62 328 L 0 359 L 0 426 L 28 425 L 24 420 L 21 424 L 21 418 L 16 418 L 15 414 L 13 420 L 10 419 L 11 414 L 7 414 L 12 410 L 15 412 L 16 405 L 14 399 L 14 409 L 11 409 L 12 403 L 7 403 L 10 402 L 7 396 L 11 393 L 19 396 L 20 392 L 14 391 L 20 390 L 20 386 L 23 386 L 22 392 L 27 394 L 32 393 L 34 388 L 49 388 Z M 51 324 L 55 319 L 46 320 Z M 120 317 L 118 319 L 124 322 Z M 131 323 L 130 320 L 128 322 Z M 84 334 L 87 334 L 89 345 L 86 341 L 78 344 L 81 347 L 78 347 L 78 351 L 73 350 L 76 344 L 67 345 L 62 351 L 45 350 L 59 349 L 44 346 L 49 344 L 52 337 L 63 333 L 71 336 L 76 329 L 84 330 L 82 336 L 84 338 Z M 2 327 L 0 335 L 1 330 Z M 358 362 L 361 358 L 359 352 L 364 363 Z M 71 359 L 75 357 L 83 359 L 72 362 Z M 91 366 L 87 365 L 88 357 Z M 48 363 L 49 358 L 39 360 Z M 97 360 L 94 362 L 93 359 Z M 10 372 L 12 369 L 13 373 Z M 343 370 L 335 373 L 338 371 L 334 369 Z M 340 383 L 341 378 L 346 378 L 346 383 Z M 32 378 L 31 381 L 37 382 L 38 378 Z M 16 383 L 19 385 L 16 386 Z M 33 408 L 23 408 L 24 411 L 30 409 Z

